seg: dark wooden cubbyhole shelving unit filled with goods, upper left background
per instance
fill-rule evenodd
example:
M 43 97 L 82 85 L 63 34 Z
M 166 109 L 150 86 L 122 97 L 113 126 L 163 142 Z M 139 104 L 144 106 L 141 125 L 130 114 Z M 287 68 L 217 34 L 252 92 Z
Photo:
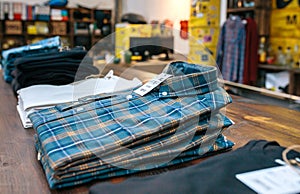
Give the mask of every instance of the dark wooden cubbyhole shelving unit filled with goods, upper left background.
M 52 9 L 66 10 L 67 18 L 51 19 L 50 15 L 50 20 L 0 20 L 0 51 L 52 36 L 60 36 L 65 46 L 90 49 L 112 32 L 112 10 L 51 7 L 50 13 Z M 18 24 L 8 28 L 7 23 Z M 37 28 L 39 24 L 44 28 Z M 85 29 L 78 29 L 78 24 L 85 24 Z

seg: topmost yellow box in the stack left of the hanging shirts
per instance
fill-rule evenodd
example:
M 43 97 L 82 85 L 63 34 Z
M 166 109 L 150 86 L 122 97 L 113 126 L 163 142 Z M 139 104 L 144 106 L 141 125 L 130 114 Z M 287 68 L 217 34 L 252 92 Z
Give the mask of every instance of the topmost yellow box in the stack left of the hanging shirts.
M 190 26 L 219 26 L 220 0 L 192 1 Z

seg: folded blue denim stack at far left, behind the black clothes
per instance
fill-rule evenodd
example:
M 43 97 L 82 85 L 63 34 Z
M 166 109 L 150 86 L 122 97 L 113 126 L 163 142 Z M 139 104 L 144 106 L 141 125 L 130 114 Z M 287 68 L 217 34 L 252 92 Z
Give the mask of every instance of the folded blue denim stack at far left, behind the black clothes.
M 47 38 L 39 42 L 25 45 L 17 48 L 12 48 L 2 52 L 3 77 L 7 83 L 13 80 L 12 72 L 15 69 L 14 62 L 19 57 L 30 56 L 38 53 L 50 53 L 57 51 L 61 47 L 59 36 Z

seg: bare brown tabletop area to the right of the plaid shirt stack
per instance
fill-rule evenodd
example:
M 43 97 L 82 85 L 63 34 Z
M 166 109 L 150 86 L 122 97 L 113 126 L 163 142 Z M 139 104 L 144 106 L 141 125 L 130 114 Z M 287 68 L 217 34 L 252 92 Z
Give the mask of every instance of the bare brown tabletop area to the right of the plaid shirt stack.
M 300 112 L 233 97 L 226 109 L 235 125 L 224 134 L 240 147 L 250 139 L 277 141 L 282 146 L 300 144 Z

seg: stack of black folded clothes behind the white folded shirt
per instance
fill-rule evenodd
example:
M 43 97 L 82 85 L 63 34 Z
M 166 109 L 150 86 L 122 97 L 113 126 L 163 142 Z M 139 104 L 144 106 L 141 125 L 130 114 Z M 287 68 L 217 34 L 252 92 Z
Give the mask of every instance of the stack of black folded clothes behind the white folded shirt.
M 14 92 L 39 84 L 64 85 L 85 79 L 99 70 L 86 57 L 83 47 L 71 50 L 41 53 L 17 58 L 12 87 Z

